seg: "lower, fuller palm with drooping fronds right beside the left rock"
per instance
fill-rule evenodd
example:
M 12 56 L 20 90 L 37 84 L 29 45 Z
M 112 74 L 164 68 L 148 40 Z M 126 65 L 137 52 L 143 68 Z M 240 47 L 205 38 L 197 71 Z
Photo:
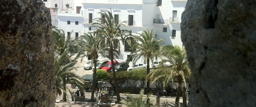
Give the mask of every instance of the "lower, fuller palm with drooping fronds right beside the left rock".
M 64 51 L 62 55 L 58 55 L 55 58 L 55 87 L 56 87 L 56 97 L 61 95 L 61 90 L 63 90 L 63 99 L 62 101 L 67 101 L 67 93 L 69 92 L 71 95 L 69 87 L 66 84 L 74 84 L 80 90 L 85 91 L 84 87 L 88 86 L 80 76 L 71 72 L 71 70 L 76 70 L 74 64 L 76 61 L 69 61 L 69 55 L 67 55 L 67 51 Z

